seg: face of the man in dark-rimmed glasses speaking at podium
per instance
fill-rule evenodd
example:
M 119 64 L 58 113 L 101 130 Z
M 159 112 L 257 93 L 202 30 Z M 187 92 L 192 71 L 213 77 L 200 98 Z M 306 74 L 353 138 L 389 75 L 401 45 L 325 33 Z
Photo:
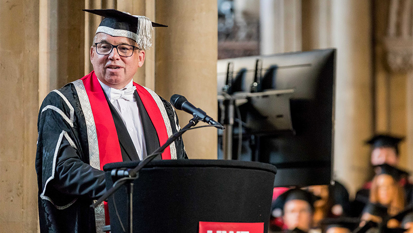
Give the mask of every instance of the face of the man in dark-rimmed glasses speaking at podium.
M 137 43 L 129 38 L 121 36 L 110 36 L 105 33 L 98 33 L 94 43 L 109 43 L 112 45 L 133 45 Z M 93 45 L 90 48 L 90 61 L 98 79 L 113 88 L 121 89 L 128 84 L 135 75 L 138 67 L 142 67 L 145 60 L 145 51 L 135 49 L 130 57 L 122 57 L 118 50 L 113 48 L 108 55 L 100 55 Z

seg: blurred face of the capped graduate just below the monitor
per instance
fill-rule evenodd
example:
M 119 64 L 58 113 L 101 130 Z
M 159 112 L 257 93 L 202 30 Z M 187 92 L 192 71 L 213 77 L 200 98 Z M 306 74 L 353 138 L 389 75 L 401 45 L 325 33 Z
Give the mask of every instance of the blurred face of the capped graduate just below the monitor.
M 284 224 L 288 230 L 299 228 L 308 232 L 312 224 L 310 204 L 305 200 L 289 200 L 284 205 Z

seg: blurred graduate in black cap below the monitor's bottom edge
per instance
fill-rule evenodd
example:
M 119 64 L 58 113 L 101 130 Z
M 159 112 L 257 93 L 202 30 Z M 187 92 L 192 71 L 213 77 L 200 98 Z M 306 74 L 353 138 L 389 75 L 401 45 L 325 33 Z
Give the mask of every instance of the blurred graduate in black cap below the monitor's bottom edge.
M 319 199 L 306 190 L 293 188 L 281 194 L 272 209 L 282 210 L 285 230 L 309 232 L 313 223 L 314 202 Z

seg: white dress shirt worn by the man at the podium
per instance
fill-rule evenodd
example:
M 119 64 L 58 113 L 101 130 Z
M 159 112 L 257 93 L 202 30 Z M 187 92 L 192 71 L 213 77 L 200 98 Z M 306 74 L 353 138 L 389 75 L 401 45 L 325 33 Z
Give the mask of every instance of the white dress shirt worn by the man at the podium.
M 104 93 L 106 94 L 107 98 L 109 99 L 109 101 L 112 103 L 112 105 L 115 107 L 120 117 L 122 118 L 123 123 L 125 124 L 126 129 L 128 130 L 128 133 L 131 136 L 133 144 L 135 145 L 135 149 L 136 149 L 136 152 L 138 153 L 139 159 L 142 160 L 143 158 L 147 156 L 147 152 L 146 152 L 145 136 L 143 134 L 142 121 L 140 120 L 138 105 L 137 105 L 135 96 L 133 97 L 132 101 L 125 100 L 123 98 L 119 98 L 118 100 L 111 100 L 110 89 L 112 87 L 102 83 L 100 80 L 99 80 L 99 83 L 101 83 Z M 124 88 L 131 87 L 131 86 L 133 86 L 132 80 Z

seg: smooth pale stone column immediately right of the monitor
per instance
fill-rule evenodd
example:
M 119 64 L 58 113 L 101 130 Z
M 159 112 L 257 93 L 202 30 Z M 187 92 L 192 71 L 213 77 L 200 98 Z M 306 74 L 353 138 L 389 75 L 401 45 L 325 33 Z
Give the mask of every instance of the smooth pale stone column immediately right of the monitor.
M 370 1 L 331 2 L 332 47 L 337 48 L 334 171 L 354 191 L 368 178 L 373 133 Z

